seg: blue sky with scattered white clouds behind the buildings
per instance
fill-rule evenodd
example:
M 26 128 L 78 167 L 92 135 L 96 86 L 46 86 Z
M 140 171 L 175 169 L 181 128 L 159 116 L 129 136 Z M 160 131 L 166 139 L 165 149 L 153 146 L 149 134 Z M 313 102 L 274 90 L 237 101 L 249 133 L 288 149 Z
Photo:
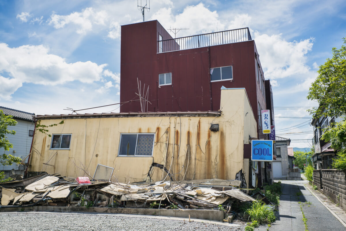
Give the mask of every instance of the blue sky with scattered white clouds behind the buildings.
M 143 0 L 142 0 L 143 2 Z M 346 35 L 346 3 L 330 1 L 150 1 L 146 20 L 177 36 L 249 27 L 275 107 L 311 107 L 306 95 L 318 66 Z M 0 105 L 63 114 L 119 102 L 120 25 L 142 21 L 137 1 L 0 1 Z M 117 112 L 118 106 L 82 111 Z M 275 110 L 277 132 L 310 139 L 305 110 Z M 302 126 L 302 127 L 300 127 Z M 299 127 L 299 128 L 298 128 Z M 311 130 L 309 134 L 288 132 Z M 291 147 L 308 147 L 292 142 Z

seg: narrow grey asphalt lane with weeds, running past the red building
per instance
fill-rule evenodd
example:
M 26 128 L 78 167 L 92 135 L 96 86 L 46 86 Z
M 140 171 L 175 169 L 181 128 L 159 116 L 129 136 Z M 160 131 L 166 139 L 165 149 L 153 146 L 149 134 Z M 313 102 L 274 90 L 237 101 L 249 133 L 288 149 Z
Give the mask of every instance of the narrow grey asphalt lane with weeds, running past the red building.
M 308 184 L 308 181 L 281 181 L 281 183 L 282 194 L 279 212 L 277 212 L 278 220 L 269 230 L 306 230 L 303 213 L 307 219 L 309 231 L 346 230 L 344 225 L 304 185 Z M 261 226 L 255 230 L 264 231 L 267 228 L 267 226 Z

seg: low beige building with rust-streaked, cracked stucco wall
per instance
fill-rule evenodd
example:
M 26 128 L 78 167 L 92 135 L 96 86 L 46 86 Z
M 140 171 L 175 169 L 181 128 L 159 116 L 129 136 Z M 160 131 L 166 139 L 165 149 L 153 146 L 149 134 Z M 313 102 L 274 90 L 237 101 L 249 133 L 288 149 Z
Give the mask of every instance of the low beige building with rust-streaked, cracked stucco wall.
M 245 89 L 221 90 L 219 111 L 37 115 L 36 123 L 48 131 L 35 131 L 29 172 L 93 177 L 99 166 L 95 178 L 119 182 L 236 179 L 238 173 L 248 186 L 244 145 L 257 137 Z

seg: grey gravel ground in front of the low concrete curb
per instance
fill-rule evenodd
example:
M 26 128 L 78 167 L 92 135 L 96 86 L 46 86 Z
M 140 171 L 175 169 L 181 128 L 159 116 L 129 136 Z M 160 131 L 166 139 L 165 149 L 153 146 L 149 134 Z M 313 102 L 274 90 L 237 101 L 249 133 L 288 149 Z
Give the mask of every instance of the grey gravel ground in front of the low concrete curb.
M 193 219 L 192 219 L 193 220 Z M 146 217 L 49 212 L 0 213 L 1 230 L 244 230 L 245 225 L 226 225 L 196 222 L 189 219 L 168 220 Z

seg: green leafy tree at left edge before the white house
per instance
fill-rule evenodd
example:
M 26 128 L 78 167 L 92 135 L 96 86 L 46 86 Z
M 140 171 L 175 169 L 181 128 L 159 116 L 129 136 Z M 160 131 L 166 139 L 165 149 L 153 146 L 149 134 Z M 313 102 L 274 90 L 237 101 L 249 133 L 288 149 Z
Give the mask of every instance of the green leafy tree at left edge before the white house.
M 0 148 L 3 148 L 4 151 L 8 151 L 13 145 L 7 139 L 7 134 L 15 135 L 16 131 L 8 130 L 8 126 L 15 126 L 17 121 L 12 119 L 11 115 L 5 115 L 2 110 L 0 110 Z M 21 159 L 11 154 L 2 154 L 0 155 L 0 164 L 2 165 L 12 165 L 13 163 L 20 163 Z M 4 179 L 5 174 L 0 172 L 0 182 L 9 181 L 11 178 Z

